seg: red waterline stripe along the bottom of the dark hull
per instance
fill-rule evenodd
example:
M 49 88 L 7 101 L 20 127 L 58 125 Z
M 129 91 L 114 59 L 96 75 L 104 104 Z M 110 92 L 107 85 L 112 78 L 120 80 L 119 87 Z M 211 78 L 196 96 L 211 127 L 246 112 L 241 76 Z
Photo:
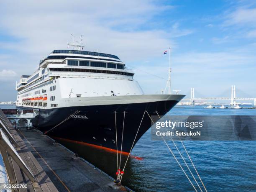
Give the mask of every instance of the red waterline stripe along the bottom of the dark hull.
M 103 149 L 104 151 L 107 151 L 107 152 L 110 152 L 110 153 L 113 153 L 113 154 L 116 153 L 116 150 L 113 149 L 113 148 L 98 146 L 98 145 L 94 145 L 94 144 L 90 144 L 90 143 L 84 143 L 82 141 L 74 141 L 74 140 L 70 140 L 70 139 L 66 139 L 66 138 L 60 138 L 60 137 L 54 137 L 54 136 L 51 136 L 51 137 L 56 139 L 56 140 L 60 140 L 60 141 L 67 141 L 69 143 L 76 143 L 76 144 L 81 144 L 81 145 L 85 145 L 85 146 L 90 146 L 90 147 L 93 147 L 93 148 L 99 148 L 99 149 Z M 118 151 L 118 154 L 120 154 L 120 153 L 121 153 L 121 151 Z M 125 151 L 122 151 L 122 155 L 128 156 L 129 153 L 125 152 Z M 143 160 L 142 157 L 138 157 L 138 156 L 130 155 L 130 157 L 134 158 L 134 159 L 138 159 L 138 160 Z

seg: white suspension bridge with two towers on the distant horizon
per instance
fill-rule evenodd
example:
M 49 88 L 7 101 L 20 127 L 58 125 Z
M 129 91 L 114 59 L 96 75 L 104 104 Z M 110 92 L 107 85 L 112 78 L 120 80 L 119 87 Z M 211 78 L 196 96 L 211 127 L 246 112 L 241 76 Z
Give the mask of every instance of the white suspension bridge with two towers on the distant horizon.
M 247 97 L 236 97 L 236 86 L 231 86 L 231 97 L 202 97 L 195 98 L 195 90 L 191 88 L 190 98 L 183 99 L 181 101 L 190 101 L 190 105 L 195 105 L 195 101 L 200 102 L 204 100 L 230 100 L 230 105 L 236 105 L 236 101 L 254 101 L 254 106 L 256 106 L 256 98 L 247 98 Z

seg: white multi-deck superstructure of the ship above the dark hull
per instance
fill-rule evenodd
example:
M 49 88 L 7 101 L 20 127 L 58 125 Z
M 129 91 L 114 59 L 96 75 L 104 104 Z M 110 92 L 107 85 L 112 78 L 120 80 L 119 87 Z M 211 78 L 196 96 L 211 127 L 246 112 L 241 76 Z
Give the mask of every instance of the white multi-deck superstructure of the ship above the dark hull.
M 54 50 L 32 75 L 17 84 L 17 106 L 65 107 L 63 98 L 143 95 L 133 71 L 114 55 L 79 50 Z

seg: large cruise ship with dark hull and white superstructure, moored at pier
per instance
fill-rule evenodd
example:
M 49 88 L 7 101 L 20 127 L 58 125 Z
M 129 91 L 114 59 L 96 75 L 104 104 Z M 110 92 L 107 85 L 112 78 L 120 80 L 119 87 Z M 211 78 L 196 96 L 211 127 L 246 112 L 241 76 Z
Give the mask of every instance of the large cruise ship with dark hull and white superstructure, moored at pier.
M 118 56 L 82 48 L 54 50 L 22 75 L 16 107 L 57 141 L 128 153 L 151 127 L 147 113 L 165 115 L 184 95 L 145 95 Z

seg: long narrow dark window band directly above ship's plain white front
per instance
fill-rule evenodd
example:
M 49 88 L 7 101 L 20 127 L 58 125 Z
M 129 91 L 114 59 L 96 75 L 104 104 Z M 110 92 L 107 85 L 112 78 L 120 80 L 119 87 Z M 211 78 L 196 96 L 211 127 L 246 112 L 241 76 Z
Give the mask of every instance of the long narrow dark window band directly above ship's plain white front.
M 76 69 L 76 68 L 50 68 L 50 72 L 87 72 L 87 73 L 106 73 L 106 74 L 119 74 L 133 77 L 133 73 L 108 71 L 98 69 Z

